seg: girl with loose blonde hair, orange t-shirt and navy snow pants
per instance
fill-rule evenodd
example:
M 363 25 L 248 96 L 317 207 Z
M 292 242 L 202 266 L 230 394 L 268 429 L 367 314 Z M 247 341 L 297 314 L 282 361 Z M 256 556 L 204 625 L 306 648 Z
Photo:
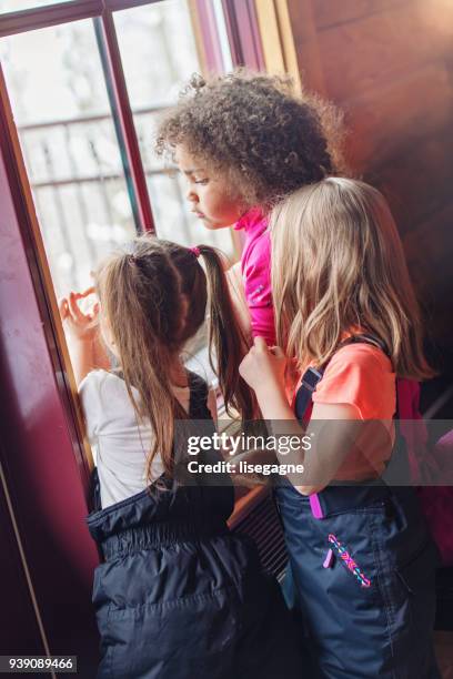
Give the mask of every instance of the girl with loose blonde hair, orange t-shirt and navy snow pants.
M 286 357 L 256 338 L 240 372 L 274 428 L 300 432 L 302 420 L 312 437 L 295 454 L 303 474 L 275 496 L 320 677 L 439 677 L 436 554 L 413 488 L 390 474 L 404 459 L 399 383 L 431 375 L 394 221 L 376 190 L 330 178 L 275 207 L 271 230 Z M 303 375 L 292 407 L 286 358 Z

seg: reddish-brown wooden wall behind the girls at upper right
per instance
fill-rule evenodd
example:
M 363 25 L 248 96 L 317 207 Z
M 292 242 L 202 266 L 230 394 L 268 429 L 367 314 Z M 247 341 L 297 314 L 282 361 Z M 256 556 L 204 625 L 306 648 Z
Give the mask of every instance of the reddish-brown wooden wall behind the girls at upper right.
M 344 109 L 350 165 L 387 196 L 430 331 L 453 355 L 453 2 L 288 8 L 302 84 Z

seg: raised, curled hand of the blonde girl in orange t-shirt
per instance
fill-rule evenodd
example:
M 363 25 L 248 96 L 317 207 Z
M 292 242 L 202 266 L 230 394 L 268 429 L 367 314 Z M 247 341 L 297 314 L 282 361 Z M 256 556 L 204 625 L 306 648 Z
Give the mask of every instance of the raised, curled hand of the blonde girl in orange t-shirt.
M 263 337 L 255 337 L 250 352 L 239 366 L 240 375 L 258 394 L 284 388 L 286 357 L 280 346 L 269 348 Z

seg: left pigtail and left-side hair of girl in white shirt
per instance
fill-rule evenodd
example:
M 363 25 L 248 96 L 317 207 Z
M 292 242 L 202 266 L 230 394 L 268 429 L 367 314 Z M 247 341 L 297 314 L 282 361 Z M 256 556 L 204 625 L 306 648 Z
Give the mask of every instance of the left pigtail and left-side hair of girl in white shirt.
M 155 480 L 152 463 L 158 454 L 172 476 L 174 419 L 187 418 L 171 383 L 184 332 L 180 277 L 165 243 L 142 236 L 134 241 L 132 255 L 110 257 L 97 280 L 129 397 L 139 422 L 148 419 L 154 434 L 147 456 L 147 479 Z

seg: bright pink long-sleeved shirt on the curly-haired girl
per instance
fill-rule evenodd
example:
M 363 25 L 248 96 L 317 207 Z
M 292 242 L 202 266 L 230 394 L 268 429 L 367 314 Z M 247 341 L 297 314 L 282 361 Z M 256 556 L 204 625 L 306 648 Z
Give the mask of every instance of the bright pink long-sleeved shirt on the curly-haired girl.
M 275 323 L 271 288 L 271 240 L 268 219 L 260 209 L 249 210 L 234 225 L 244 230 L 245 243 L 241 257 L 245 300 L 250 311 L 253 337 L 264 337 L 275 344 Z

